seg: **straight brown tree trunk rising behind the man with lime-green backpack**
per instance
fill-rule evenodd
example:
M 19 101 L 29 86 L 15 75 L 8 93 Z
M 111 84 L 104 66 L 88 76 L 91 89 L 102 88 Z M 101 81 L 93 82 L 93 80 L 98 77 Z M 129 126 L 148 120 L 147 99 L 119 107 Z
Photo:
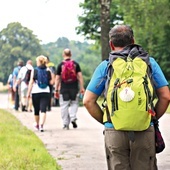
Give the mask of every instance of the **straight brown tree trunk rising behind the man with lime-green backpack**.
M 99 0 L 101 4 L 101 52 L 102 60 L 109 56 L 110 6 L 112 0 Z

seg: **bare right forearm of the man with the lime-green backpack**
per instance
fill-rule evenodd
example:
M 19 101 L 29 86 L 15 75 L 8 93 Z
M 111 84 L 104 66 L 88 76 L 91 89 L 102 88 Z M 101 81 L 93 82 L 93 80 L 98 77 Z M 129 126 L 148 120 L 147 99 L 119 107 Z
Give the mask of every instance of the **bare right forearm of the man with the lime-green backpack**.
M 159 119 L 169 106 L 170 102 L 170 91 L 168 86 L 161 87 L 156 90 L 158 101 L 155 105 L 156 117 Z

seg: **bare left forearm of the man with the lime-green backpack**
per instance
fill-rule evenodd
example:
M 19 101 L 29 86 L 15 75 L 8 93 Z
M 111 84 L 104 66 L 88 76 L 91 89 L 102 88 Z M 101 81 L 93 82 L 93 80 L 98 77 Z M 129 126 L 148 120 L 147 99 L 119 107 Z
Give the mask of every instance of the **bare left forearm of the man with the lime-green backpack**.
M 98 96 L 91 91 L 86 90 L 83 98 L 83 104 L 90 115 L 98 122 L 103 124 L 103 111 L 97 104 Z

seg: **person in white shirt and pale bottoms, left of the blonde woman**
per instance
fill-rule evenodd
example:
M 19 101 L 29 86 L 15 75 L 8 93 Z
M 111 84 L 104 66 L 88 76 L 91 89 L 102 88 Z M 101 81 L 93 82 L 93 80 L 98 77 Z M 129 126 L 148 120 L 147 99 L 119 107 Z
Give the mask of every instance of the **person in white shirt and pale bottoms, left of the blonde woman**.
M 31 71 L 33 70 L 32 60 L 28 60 L 26 65 L 23 66 L 17 76 L 17 80 L 14 84 L 14 91 L 18 85 L 21 86 L 21 110 L 24 111 L 32 111 L 31 106 L 32 102 L 31 99 L 27 99 L 27 91 L 28 91 L 28 84 L 30 81 Z M 29 107 L 29 110 L 28 110 Z

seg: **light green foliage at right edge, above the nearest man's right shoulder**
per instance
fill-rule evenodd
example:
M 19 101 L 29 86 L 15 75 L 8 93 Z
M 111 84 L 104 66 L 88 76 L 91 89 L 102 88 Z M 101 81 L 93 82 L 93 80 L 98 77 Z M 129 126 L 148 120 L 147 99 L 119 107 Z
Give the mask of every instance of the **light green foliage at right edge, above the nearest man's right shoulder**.
M 170 81 L 170 1 L 120 0 L 120 2 L 124 22 L 132 26 L 136 42 L 157 60 Z

